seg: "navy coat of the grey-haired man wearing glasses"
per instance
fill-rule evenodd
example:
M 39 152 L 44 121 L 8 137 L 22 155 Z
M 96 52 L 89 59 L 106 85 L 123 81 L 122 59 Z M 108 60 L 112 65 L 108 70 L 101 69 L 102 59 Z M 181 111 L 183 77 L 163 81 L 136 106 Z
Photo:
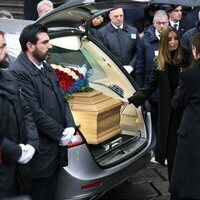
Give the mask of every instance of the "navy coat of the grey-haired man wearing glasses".
M 143 87 L 149 80 L 149 76 L 154 66 L 156 51 L 158 51 L 159 40 L 155 35 L 155 27 L 150 26 L 144 33 L 140 42 L 140 48 L 136 55 L 134 77 L 136 83 Z M 150 97 L 153 101 L 158 101 L 158 92 Z

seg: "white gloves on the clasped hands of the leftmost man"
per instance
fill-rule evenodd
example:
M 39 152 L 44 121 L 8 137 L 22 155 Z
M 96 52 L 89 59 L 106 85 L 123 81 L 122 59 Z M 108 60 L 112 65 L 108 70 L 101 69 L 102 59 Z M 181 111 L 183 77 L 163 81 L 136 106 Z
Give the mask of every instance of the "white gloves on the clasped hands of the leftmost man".
M 31 160 L 31 158 L 33 157 L 34 153 L 35 153 L 35 148 L 33 148 L 31 145 L 27 144 L 19 144 L 19 146 L 22 149 L 22 155 L 19 158 L 18 162 L 21 164 L 26 164 L 27 162 L 29 162 Z

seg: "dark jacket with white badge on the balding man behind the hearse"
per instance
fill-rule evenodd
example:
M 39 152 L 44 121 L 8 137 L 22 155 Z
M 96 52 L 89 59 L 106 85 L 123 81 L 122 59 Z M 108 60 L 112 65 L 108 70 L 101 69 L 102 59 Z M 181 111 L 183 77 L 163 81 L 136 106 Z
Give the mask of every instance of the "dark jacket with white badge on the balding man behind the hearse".
M 118 30 L 108 23 L 99 29 L 98 39 L 122 65 L 134 66 L 140 41 L 135 27 L 124 24 L 123 29 Z

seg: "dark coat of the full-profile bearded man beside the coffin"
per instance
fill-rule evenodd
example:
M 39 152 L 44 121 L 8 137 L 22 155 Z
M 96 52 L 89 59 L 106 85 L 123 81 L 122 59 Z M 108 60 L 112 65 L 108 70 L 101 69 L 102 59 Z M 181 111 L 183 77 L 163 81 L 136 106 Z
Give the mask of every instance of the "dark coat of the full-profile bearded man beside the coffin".
M 9 70 L 22 87 L 36 122 L 40 145 L 33 159 L 34 177 L 49 177 L 67 164 L 67 148 L 59 146 L 64 128 L 75 127 L 55 71 L 43 62 L 46 76 L 21 52 Z

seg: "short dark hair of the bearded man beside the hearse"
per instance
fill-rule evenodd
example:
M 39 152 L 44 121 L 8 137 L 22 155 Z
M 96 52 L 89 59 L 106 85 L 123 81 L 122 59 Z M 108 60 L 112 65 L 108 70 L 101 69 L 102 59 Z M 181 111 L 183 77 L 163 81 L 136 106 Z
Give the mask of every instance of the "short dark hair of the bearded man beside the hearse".
M 26 44 L 31 42 L 32 44 L 36 44 L 38 41 L 37 34 L 38 33 L 48 33 L 48 29 L 41 24 L 31 24 L 26 26 L 19 37 L 19 42 L 21 44 L 22 51 L 27 51 Z

